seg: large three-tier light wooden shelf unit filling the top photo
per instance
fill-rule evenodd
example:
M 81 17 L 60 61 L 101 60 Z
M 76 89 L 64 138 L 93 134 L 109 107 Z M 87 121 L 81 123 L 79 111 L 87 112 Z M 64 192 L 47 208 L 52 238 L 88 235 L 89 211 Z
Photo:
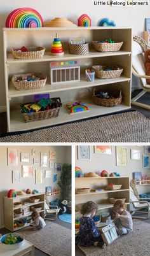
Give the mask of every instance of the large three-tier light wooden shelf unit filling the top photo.
M 50 55 L 50 46 L 57 32 L 62 41 L 65 51 L 64 56 L 53 57 Z M 90 43 L 90 53 L 87 55 L 72 55 L 68 53 L 68 42 L 70 38 L 85 38 Z M 17 40 L 16 40 L 17 38 Z M 115 41 L 123 41 L 123 46 L 119 52 L 96 52 L 92 48 L 92 41 L 113 38 Z M 62 124 L 83 118 L 106 115 L 113 112 L 128 110 L 131 97 L 132 78 L 132 29 L 128 27 L 42 27 L 35 29 L 3 29 L 4 41 L 4 74 L 6 86 L 6 107 L 8 132 L 25 131 L 46 127 L 55 124 Z M 13 59 L 11 55 L 12 47 L 22 45 L 39 45 L 46 48 L 42 59 Z M 79 82 L 50 84 L 50 62 L 53 60 L 78 60 L 81 68 L 81 80 Z M 85 69 L 92 65 L 118 64 L 124 71 L 120 78 L 98 79 L 94 82 L 86 82 Z M 46 86 L 43 89 L 16 90 L 11 77 L 18 73 L 41 72 L 48 76 Z M 97 89 L 119 89 L 123 94 L 123 101 L 119 106 L 107 108 L 97 106 L 93 102 L 93 88 Z M 90 111 L 69 115 L 64 107 L 60 110 L 57 118 L 24 123 L 20 115 L 20 104 L 33 100 L 35 94 L 49 93 L 50 97 L 60 97 L 63 105 L 71 101 L 83 101 L 88 104 Z

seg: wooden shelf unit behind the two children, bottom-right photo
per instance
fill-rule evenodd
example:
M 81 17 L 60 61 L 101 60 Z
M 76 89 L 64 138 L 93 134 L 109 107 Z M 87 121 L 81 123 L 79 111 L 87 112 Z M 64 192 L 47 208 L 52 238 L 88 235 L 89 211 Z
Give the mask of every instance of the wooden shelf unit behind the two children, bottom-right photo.
M 97 204 L 98 211 L 104 211 L 113 208 L 109 198 L 126 198 L 128 210 L 130 210 L 130 183 L 129 177 L 93 177 L 93 178 L 76 178 L 76 188 L 102 189 L 102 192 L 90 192 L 86 194 L 76 194 L 76 204 L 93 201 Z M 119 190 L 104 190 L 104 187 L 110 183 L 122 184 Z M 88 196 L 88 197 L 87 197 Z M 79 214 L 76 211 L 76 214 Z

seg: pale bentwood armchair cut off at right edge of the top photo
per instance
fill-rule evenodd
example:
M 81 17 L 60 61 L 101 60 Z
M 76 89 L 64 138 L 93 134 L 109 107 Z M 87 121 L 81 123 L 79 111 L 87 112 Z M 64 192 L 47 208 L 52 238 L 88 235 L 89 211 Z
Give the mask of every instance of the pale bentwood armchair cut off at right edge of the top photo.
M 149 46 L 147 46 L 147 43 L 144 39 L 140 38 L 139 36 L 133 36 L 132 73 L 137 78 L 140 78 L 140 86 L 142 88 L 142 92 L 140 92 L 137 96 L 133 97 L 131 103 L 133 105 L 147 108 L 148 110 L 150 110 L 150 104 L 139 102 L 140 97 L 144 96 L 146 92 L 150 92 L 150 85 L 146 83 L 146 78 L 150 79 L 150 76 L 146 76 L 146 69 L 144 65 L 144 52 L 148 49 Z

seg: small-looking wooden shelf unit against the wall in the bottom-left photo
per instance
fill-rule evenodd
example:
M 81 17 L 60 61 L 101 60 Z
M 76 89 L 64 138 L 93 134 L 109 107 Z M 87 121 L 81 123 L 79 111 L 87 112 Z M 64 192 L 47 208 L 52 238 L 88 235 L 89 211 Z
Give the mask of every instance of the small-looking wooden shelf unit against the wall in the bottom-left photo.
M 35 198 L 39 198 L 39 202 L 37 203 L 28 203 L 28 204 L 22 204 L 22 206 L 14 206 L 14 203 L 16 202 L 20 202 L 20 203 L 24 203 L 24 202 L 29 202 L 29 199 L 31 197 L 35 197 Z M 39 211 L 41 217 L 44 218 L 44 197 L 45 194 L 44 193 L 38 193 L 38 194 L 27 194 L 25 196 L 17 196 L 17 197 L 4 197 L 4 226 L 6 227 L 6 229 L 10 229 L 10 231 L 17 231 L 18 229 L 22 229 L 24 227 L 27 227 L 27 225 L 30 225 L 30 223 L 26 223 L 24 225 L 24 227 L 14 227 L 14 221 L 18 220 L 20 218 L 25 218 L 25 217 L 29 217 L 32 214 L 32 211 L 30 211 L 29 213 L 22 215 L 21 217 L 14 217 L 14 211 L 15 210 L 22 210 L 25 209 L 27 207 L 31 207 L 31 206 L 40 206 L 42 207 L 42 210 Z

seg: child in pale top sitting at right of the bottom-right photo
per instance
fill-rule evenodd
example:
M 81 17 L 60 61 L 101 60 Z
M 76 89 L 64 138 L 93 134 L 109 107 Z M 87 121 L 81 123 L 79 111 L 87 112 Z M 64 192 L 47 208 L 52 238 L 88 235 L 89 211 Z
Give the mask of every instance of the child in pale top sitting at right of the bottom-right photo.
M 130 213 L 126 210 L 126 204 L 122 200 L 114 203 L 115 212 L 114 225 L 120 236 L 133 231 L 133 222 Z

